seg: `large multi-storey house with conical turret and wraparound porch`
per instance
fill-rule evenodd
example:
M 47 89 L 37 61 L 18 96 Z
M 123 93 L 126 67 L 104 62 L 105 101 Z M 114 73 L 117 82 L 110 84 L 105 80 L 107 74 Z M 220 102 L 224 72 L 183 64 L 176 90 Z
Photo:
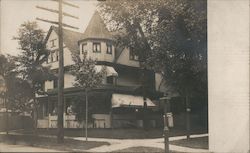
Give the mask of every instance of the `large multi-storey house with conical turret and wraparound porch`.
M 97 68 L 106 67 L 106 77 L 103 84 L 90 93 L 89 112 L 92 121 L 89 127 L 93 128 L 119 128 L 142 127 L 145 116 L 148 125 L 157 127 L 162 124 L 158 111 L 158 102 L 161 93 L 158 75 L 153 71 L 139 67 L 138 56 L 128 48 L 114 46 L 113 35 L 110 33 L 99 15 L 95 12 L 84 33 L 63 30 L 64 43 L 64 110 L 65 128 L 80 128 L 84 122 L 76 121 L 75 115 L 67 114 L 71 107 L 81 107 L 85 110 L 83 89 L 74 87 L 74 76 L 70 74 L 69 67 L 74 64 L 72 54 L 78 53 L 80 57 L 84 52 L 87 56 L 97 60 Z M 45 39 L 50 55 L 45 63 L 58 72 L 58 28 L 51 26 Z M 38 128 L 55 128 L 57 116 L 57 80 L 46 81 L 44 90 L 46 95 L 40 95 Z M 76 103 L 81 100 L 81 106 Z M 144 101 L 147 103 L 145 115 Z M 74 112 L 74 109 L 73 109 Z M 83 113 L 84 114 L 84 113 Z M 84 118 L 84 117 L 83 117 Z

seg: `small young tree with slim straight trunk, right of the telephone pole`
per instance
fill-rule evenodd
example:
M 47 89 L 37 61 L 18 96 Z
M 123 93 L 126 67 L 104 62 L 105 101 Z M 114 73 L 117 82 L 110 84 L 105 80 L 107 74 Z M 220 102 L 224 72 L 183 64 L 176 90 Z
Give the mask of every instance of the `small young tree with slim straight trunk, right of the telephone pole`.
M 96 61 L 88 58 L 86 52 L 82 59 L 78 54 L 73 55 L 73 60 L 75 64 L 71 67 L 71 73 L 75 76 L 74 86 L 83 88 L 85 91 L 85 137 L 88 141 L 88 92 L 101 85 L 104 69 L 98 72 L 95 65 Z

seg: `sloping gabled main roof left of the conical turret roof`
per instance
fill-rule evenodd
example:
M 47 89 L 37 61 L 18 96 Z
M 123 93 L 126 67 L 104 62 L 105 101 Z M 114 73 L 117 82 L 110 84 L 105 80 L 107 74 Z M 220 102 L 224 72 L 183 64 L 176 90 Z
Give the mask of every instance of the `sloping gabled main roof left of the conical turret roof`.
M 51 26 L 48 32 L 47 37 L 45 38 L 45 42 L 48 40 L 48 37 L 52 31 L 55 31 L 58 35 L 58 27 Z M 84 34 L 80 32 L 71 31 L 68 29 L 63 29 L 63 42 L 67 46 L 67 48 L 72 52 L 78 52 L 78 41 L 84 38 Z

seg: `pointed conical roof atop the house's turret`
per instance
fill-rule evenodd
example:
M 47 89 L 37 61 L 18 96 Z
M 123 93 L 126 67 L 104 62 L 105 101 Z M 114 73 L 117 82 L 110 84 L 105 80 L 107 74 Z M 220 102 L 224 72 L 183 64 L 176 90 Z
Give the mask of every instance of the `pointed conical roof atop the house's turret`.
M 86 38 L 94 38 L 94 39 L 112 39 L 112 34 L 106 28 L 106 25 L 98 13 L 96 11 L 92 16 L 85 32 L 84 37 Z

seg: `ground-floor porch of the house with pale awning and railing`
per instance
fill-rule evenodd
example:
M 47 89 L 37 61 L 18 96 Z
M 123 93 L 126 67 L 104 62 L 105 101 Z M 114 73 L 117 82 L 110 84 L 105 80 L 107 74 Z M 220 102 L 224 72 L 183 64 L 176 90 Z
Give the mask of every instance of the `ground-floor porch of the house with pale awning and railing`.
M 85 95 L 83 93 L 65 94 L 64 128 L 85 128 Z M 57 128 L 57 97 L 50 95 L 39 99 L 38 128 Z M 157 106 L 149 98 L 145 99 L 149 127 L 159 127 L 162 122 Z M 143 128 L 145 119 L 144 98 L 131 94 L 110 91 L 89 93 L 88 128 Z M 68 112 L 72 106 L 73 111 Z M 154 109 L 154 110 L 153 110 Z M 78 111 L 76 113 L 75 111 Z

